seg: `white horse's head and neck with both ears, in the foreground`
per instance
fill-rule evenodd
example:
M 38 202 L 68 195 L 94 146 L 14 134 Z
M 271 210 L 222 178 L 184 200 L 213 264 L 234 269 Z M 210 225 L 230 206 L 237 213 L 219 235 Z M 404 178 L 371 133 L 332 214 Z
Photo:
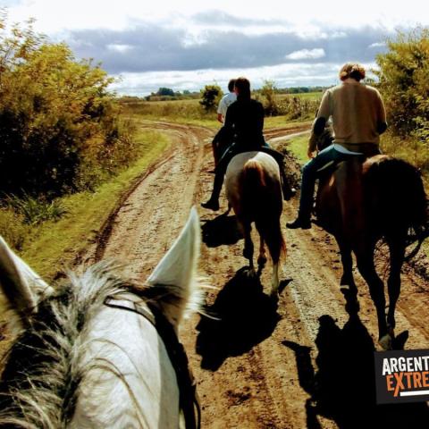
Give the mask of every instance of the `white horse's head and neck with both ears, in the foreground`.
M 0 285 L 20 331 L 4 357 L 0 425 L 197 427 L 176 335 L 185 310 L 198 308 L 199 243 L 193 209 L 146 287 L 101 262 L 54 290 L 0 238 Z

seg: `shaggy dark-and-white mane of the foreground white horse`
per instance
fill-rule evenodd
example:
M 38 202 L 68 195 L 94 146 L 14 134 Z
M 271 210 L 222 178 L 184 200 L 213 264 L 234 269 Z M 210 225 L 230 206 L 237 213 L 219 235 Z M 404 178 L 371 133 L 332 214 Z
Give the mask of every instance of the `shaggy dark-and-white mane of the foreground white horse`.
M 119 268 L 104 261 L 80 277 L 70 274 L 70 283 L 40 302 L 29 329 L 21 332 L 3 357 L 2 427 L 66 427 L 74 414 L 80 382 L 92 368 L 81 364 L 88 321 L 105 298 L 129 291 L 142 299 L 164 299 L 166 288 L 140 288 L 122 279 Z M 116 368 L 111 370 L 117 374 Z M 126 383 L 122 374 L 117 375 Z

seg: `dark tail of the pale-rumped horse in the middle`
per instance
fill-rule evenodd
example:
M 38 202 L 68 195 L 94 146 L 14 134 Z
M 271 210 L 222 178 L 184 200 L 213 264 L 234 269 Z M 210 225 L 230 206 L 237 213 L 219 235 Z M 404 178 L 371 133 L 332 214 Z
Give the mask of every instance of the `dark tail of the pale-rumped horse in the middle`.
M 255 159 L 244 165 L 243 203 L 255 219 L 257 231 L 265 241 L 273 262 L 286 255 L 286 244 L 282 235 L 280 216 L 282 214 L 282 189 L 280 181 L 272 183 L 264 167 Z M 249 212 L 248 212 L 249 213 Z

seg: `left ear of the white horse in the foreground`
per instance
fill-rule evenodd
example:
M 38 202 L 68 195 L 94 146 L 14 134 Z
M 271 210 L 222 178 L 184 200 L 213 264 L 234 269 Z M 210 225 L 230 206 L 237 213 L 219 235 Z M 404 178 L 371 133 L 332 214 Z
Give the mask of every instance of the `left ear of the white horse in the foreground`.
M 0 236 L 0 288 L 12 309 L 21 317 L 36 311 L 42 295 L 53 290 L 29 265 L 13 253 Z

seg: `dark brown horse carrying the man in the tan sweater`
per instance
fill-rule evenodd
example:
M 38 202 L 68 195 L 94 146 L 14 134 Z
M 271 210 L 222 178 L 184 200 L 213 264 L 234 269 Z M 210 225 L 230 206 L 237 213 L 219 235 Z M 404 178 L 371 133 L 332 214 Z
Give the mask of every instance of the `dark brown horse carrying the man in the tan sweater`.
M 328 133 L 324 138 L 328 137 Z M 332 136 L 331 136 L 332 137 Z M 328 144 L 329 144 L 328 143 Z M 400 270 L 410 231 L 417 240 L 428 235 L 427 203 L 420 173 L 407 162 L 376 155 L 363 160 L 349 156 L 319 181 L 315 211 L 318 222 L 335 237 L 341 251 L 341 285 L 357 293 L 352 252 L 357 269 L 368 284 L 378 318 L 379 342 L 391 349 L 395 307 L 400 296 Z M 390 250 L 387 281 L 389 310 L 385 314 L 384 284 L 375 269 L 374 250 L 383 239 Z

